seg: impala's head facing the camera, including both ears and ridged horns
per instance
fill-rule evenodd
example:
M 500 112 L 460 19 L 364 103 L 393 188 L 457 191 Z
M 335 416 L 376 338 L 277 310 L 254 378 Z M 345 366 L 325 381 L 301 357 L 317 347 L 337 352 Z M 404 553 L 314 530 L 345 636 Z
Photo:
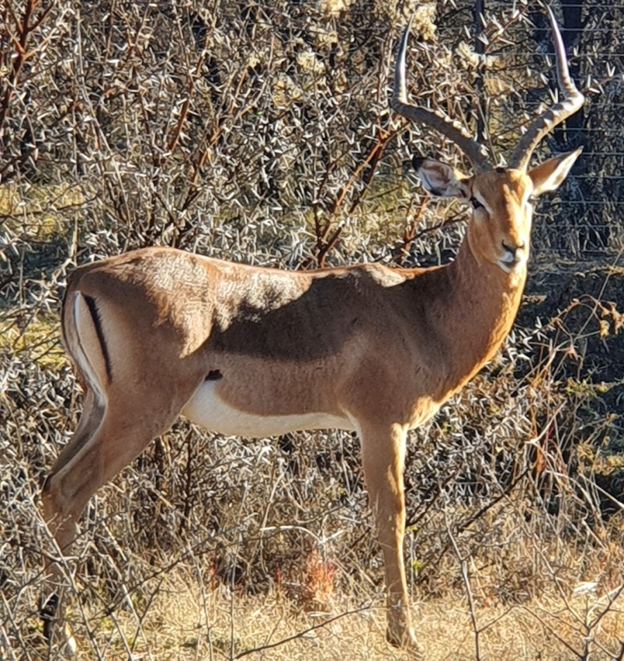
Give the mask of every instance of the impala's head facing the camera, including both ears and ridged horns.
M 474 170 L 472 175 L 467 175 L 442 161 L 414 157 L 413 166 L 419 179 L 432 195 L 458 197 L 471 204 L 472 217 L 467 229 L 471 252 L 480 265 L 496 265 L 505 273 L 526 270 L 535 201 L 542 193 L 555 191 L 562 184 L 582 151 L 578 148 L 537 167 L 529 167 L 532 153 L 541 139 L 584 103 L 583 95 L 570 77 L 563 39 L 550 8 L 548 15 L 563 98 L 535 118 L 512 152 L 506 168 L 493 168 L 483 155 L 483 146 L 449 118 L 408 103 L 405 53 L 411 21 L 401 37 L 397 55 L 392 107 L 410 121 L 428 125 L 451 139 L 468 157 Z

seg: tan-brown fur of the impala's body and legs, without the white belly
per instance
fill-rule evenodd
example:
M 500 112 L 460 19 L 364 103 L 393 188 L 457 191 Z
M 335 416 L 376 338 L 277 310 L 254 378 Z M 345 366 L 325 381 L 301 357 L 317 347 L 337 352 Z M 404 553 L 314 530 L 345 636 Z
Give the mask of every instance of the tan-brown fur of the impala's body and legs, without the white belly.
M 497 176 L 516 191 L 513 176 Z M 527 181 L 525 175 L 521 184 Z M 468 230 L 488 250 L 498 240 L 492 231 L 502 228 L 508 240 L 526 231 L 517 227 L 525 219 L 514 195 L 492 204 L 503 215 L 483 227 L 473 220 Z M 464 243 L 441 268 L 285 272 L 148 248 L 76 270 L 64 299 L 64 337 L 94 404 L 46 483 L 46 518 L 53 528 L 64 522 L 55 531 L 60 547 L 69 548 L 94 491 L 164 432 L 218 371 L 216 393 L 229 407 L 256 416 L 323 412 L 360 432 L 398 617 L 391 635 L 401 640 L 409 622 L 401 550 L 406 432 L 458 391 L 507 335 L 526 269 L 508 273 L 494 262 Z M 73 310 L 84 315 L 80 301 L 87 299 L 105 349 L 95 322 L 81 322 L 85 337 L 78 336 Z M 92 376 L 84 373 L 82 352 Z

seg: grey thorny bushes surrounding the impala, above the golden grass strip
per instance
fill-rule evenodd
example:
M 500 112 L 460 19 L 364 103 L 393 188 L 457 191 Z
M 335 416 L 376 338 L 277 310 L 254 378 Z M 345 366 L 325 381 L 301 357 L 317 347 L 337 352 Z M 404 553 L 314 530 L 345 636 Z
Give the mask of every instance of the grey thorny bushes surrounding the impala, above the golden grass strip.
M 527 6 L 505 3 L 483 28 L 502 53 L 483 79 L 455 4 L 25 0 L 0 10 L 8 658 L 5 648 L 28 658 L 36 637 L 42 561 L 55 553 L 39 488 L 80 409 L 58 327 L 67 272 L 162 244 L 290 268 L 446 261 L 461 210 L 411 190 L 402 166 L 407 147 L 453 155 L 390 116 L 399 26 L 415 12 L 411 84 L 466 125 L 478 91 L 494 124 L 511 125 L 510 104 L 530 83 L 513 73 L 526 62 L 496 41 L 499 25 L 529 39 Z M 518 130 L 499 131 L 501 143 Z M 467 590 L 480 603 L 525 603 L 578 581 L 602 592 L 623 581 L 623 272 L 612 256 L 592 270 L 553 267 L 539 245 L 499 357 L 410 437 L 406 552 L 422 599 Z M 68 585 L 103 613 L 148 605 L 159 576 L 180 565 L 213 587 L 277 586 L 313 608 L 333 589 L 362 600 L 383 589 L 345 432 L 244 440 L 180 421 L 98 492 L 81 529 Z

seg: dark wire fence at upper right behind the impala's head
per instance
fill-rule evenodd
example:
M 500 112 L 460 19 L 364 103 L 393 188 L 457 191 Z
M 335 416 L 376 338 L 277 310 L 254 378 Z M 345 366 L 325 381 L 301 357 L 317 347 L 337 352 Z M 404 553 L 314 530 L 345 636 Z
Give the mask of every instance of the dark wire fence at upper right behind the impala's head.
M 624 140 L 621 130 L 621 108 L 624 106 L 624 3 L 575 2 L 562 0 L 550 3 L 562 26 L 570 69 L 579 89 L 587 97 L 584 108 L 549 136 L 538 155 L 564 152 L 578 146 L 584 151 L 571 177 L 559 193 L 539 204 L 533 233 L 534 252 L 575 259 L 596 259 L 618 252 L 624 245 Z M 479 6 L 483 21 L 470 16 Z M 508 39 L 501 44 L 491 22 L 505 25 L 509 3 L 464 3 L 458 13 L 472 21 L 469 34 L 478 39 L 485 35 L 485 54 L 512 54 L 516 71 L 530 70 L 526 85 L 505 90 L 508 98 L 501 106 L 507 117 L 517 112 L 537 112 L 537 108 L 552 97 L 557 88 L 553 69 L 553 43 L 544 17 L 544 3 L 530 1 L 519 10 L 530 22 L 509 21 Z M 449 23 L 442 34 L 451 40 L 466 38 L 465 26 Z M 463 28 L 463 33 L 462 33 Z M 500 33 L 501 30 L 499 30 Z M 487 63 L 486 63 L 487 64 Z M 510 70 L 510 62 L 504 68 Z M 543 78 L 546 73 L 547 82 Z M 488 77 L 501 76 L 500 67 L 483 72 L 485 89 Z M 545 84 L 546 82 L 546 84 Z M 490 119 L 494 114 L 490 114 Z M 540 153 L 541 152 L 541 153 Z M 537 160 L 537 159 L 534 159 Z

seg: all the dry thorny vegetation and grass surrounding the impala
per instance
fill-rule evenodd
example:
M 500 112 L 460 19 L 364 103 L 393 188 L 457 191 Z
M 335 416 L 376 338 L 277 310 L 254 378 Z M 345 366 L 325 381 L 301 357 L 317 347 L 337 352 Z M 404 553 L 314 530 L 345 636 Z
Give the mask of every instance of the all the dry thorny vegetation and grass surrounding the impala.
M 553 1 L 588 103 L 541 202 L 499 356 L 410 437 L 410 590 L 431 659 L 623 659 L 624 2 Z M 389 110 L 410 89 L 491 146 L 553 85 L 537 1 L 4 0 L 0 5 L 0 659 L 41 636 L 39 487 L 80 390 L 58 309 L 79 263 L 146 245 L 295 268 L 452 258 L 465 209 Z M 67 564 L 81 658 L 406 658 L 358 442 L 238 439 L 181 420 L 89 503 Z

